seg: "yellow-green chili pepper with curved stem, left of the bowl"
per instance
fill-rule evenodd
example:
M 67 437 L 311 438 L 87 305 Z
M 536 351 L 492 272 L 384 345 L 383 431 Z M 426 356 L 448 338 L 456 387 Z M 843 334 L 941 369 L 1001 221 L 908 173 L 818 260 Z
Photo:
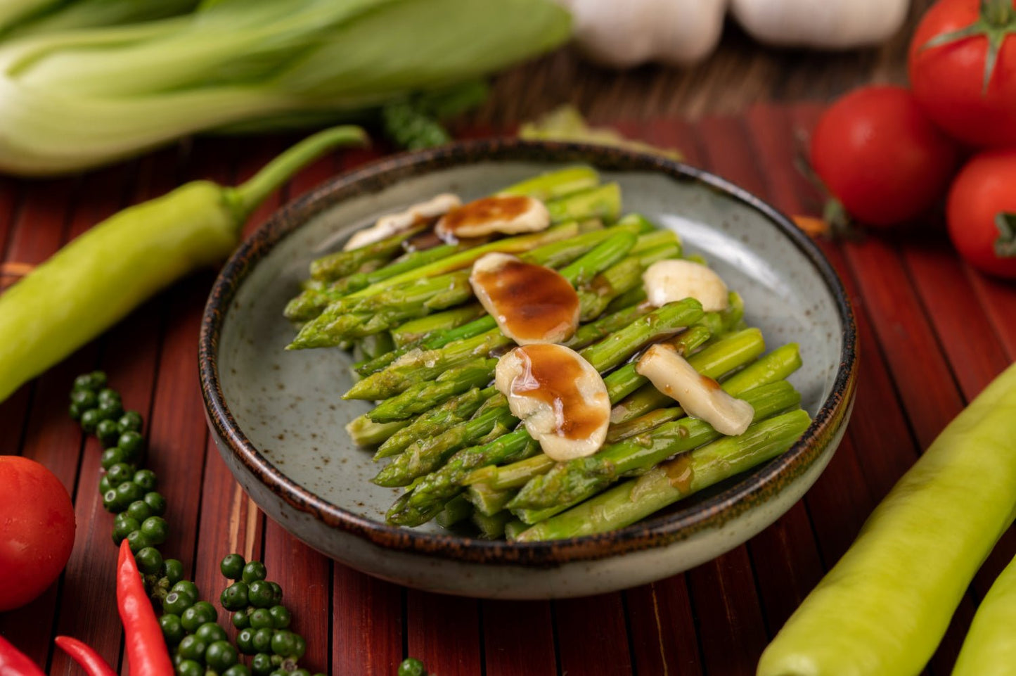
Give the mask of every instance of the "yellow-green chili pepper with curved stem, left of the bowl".
M 0 296 L 0 402 L 156 292 L 226 258 L 251 211 L 306 164 L 366 141 L 359 127 L 326 129 L 243 185 L 187 183 L 63 247 Z

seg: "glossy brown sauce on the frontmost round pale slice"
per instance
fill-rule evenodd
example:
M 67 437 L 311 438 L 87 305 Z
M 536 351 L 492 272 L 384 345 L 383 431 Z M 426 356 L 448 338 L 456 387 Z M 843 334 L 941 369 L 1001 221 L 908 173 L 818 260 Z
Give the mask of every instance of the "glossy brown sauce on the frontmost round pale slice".
M 582 364 L 556 345 L 527 345 L 516 350 L 522 373 L 511 383 L 511 393 L 531 396 L 554 410 L 555 432 L 566 439 L 588 439 L 604 422 L 602 412 L 582 396 L 578 380 Z M 581 358 L 579 358 L 581 359 Z

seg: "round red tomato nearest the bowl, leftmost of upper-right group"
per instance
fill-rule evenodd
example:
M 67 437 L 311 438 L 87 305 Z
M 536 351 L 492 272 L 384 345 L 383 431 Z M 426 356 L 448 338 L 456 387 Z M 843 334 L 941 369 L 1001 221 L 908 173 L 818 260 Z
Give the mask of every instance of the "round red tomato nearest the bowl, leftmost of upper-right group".
M 815 172 L 850 216 L 872 226 L 909 221 L 939 201 L 958 153 L 898 86 L 851 91 L 812 132 Z

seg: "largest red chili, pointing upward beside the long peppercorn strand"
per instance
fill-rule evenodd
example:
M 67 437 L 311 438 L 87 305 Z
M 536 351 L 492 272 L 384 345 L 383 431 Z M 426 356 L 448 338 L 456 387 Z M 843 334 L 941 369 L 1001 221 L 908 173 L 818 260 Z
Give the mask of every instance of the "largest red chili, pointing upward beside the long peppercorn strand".
M 117 607 L 124 625 L 124 642 L 131 674 L 173 676 L 173 662 L 163 638 L 163 630 L 126 540 L 120 545 L 120 559 L 117 561 Z

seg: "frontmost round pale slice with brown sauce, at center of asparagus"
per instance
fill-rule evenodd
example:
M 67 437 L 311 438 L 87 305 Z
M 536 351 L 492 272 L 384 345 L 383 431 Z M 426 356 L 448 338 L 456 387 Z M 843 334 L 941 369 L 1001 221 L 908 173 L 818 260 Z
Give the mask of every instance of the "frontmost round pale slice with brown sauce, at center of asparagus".
M 585 457 L 604 445 L 611 419 L 607 385 L 575 351 L 560 345 L 515 348 L 498 361 L 494 382 L 551 458 Z

